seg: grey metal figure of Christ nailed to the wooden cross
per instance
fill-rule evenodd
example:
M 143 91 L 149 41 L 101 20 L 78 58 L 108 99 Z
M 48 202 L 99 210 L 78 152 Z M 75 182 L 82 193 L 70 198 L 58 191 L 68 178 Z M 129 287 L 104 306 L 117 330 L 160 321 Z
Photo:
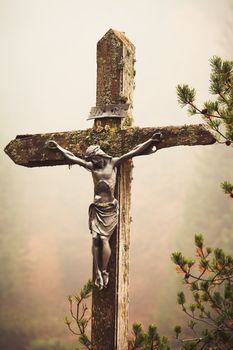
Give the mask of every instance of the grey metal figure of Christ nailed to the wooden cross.
M 153 134 L 149 140 L 120 157 L 111 157 L 101 150 L 100 146 L 92 145 L 87 148 L 85 159 L 76 157 L 55 141 L 46 142 L 49 149 L 59 150 L 71 164 L 78 164 L 92 173 L 94 201 L 89 207 L 89 229 L 93 240 L 95 285 L 100 290 L 106 288 L 109 282 L 107 271 L 111 255 L 109 240 L 118 223 L 118 201 L 114 197 L 117 168 L 133 157 L 156 152 L 156 143 L 161 141 L 161 136 L 161 133 Z

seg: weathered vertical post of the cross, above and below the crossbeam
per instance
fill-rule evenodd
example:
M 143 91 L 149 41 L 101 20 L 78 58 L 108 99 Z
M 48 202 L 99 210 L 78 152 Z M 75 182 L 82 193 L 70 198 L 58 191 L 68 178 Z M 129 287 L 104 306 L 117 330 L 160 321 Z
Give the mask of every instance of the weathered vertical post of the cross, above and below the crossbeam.
M 110 29 L 98 42 L 96 107 L 125 105 L 127 108 L 123 118 L 96 118 L 96 130 L 113 128 L 117 131 L 131 126 L 134 62 L 135 48 L 124 33 Z M 96 350 L 128 348 L 131 173 L 131 162 L 126 162 L 117 174 L 115 195 L 119 201 L 119 222 L 110 240 L 109 285 L 102 291 L 93 290 L 92 343 Z

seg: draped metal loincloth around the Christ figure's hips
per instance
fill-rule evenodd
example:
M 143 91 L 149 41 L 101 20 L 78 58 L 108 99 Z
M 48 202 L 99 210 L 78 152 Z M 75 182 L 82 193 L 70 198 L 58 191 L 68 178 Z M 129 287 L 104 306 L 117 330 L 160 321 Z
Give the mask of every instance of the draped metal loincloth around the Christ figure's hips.
M 89 229 L 96 235 L 110 238 L 118 223 L 118 201 L 110 203 L 92 203 L 89 207 Z

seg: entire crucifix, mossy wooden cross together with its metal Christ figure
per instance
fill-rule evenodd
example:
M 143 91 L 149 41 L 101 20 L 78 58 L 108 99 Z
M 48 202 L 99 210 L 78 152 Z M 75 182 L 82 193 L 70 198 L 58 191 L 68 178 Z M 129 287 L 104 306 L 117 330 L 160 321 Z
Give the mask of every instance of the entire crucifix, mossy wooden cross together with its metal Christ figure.
M 76 163 L 92 172 L 89 227 L 95 240 L 95 286 L 91 332 L 96 350 L 128 348 L 131 158 L 167 147 L 216 141 L 201 124 L 134 127 L 134 63 L 134 45 L 124 33 L 110 29 L 97 44 L 96 106 L 88 118 L 94 120 L 93 127 L 19 135 L 5 148 L 22 166 Z

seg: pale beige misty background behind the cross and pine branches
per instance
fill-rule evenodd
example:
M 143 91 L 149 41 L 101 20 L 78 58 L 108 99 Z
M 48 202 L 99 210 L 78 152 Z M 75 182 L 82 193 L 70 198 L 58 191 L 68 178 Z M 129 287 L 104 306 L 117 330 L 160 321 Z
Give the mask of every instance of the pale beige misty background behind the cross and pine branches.
M 136 46 L 135 123 L 198 123 L 177 104 L 188 83 L 209 98 L 208 60 L 233 58 L 233 1 L 0 1 L 0 348 L 34 349 L 56 338 L 67 296 L 91 276 L 88 206 L 93 186 L 80 167 L 26 169 L 3 153 L 17 134 L 91 127 L 96 43 L 109 28 Z M 220 189 L 233 180 L 232 150 L 214 145 L 164 149 L 134 160 L 130 322 L 173 336 L 184 315 L 172 251 L 193 253 L 194 233 L 233 252 L 233 206 Z M 31 345 L 30 345 L 31 344 Z M 58 347 L 57 347 L 58 349 Z

